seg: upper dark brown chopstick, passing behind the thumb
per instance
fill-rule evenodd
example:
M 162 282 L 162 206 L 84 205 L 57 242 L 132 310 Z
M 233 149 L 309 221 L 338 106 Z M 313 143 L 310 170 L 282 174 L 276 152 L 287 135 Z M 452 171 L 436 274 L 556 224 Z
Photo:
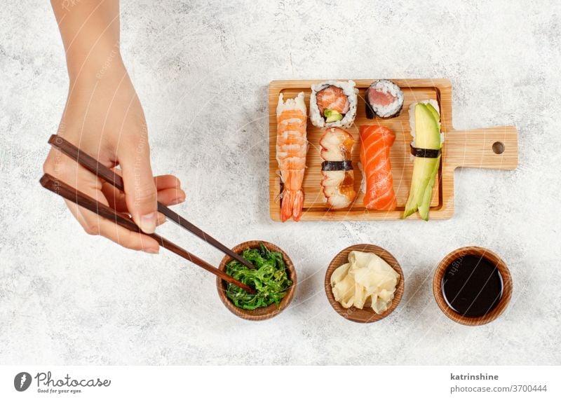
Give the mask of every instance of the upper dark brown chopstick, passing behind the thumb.
M 66 139 L 58 135 L 51 135 L 48 139 L 48 143 L 56 149 L 62 151 L 62 153 L 65 153 L 66 156 L 72 158 L 72 160 L 76 161 L 76 163 L 79 163 L 82 167 L 86 168 L 86 170 L 89 170 L 93 174 L 96 174 L 98 177 L 104 179 L 109 184 L 118 188 L 120 191 L 125 191 L 123 178 L 121 178 L 114 171 L 109 170 L 109 168 L 105 167 L 105 165 L 98 162 L 89 154 L 84 153 L 83 151 L 78 149 L 76 146 L 74 146 L 74 144 L 68 142 Z M 205 242 L 222 251 L 222 253 L 231 256 L 231 258 L 234 258 L 246 267 L 252 269 L 255 268 L 255 265 L 245 260 L 245 258 L 240 256 L 236 252 L 231 251 L 231 249 L 224 246 L 224 244 L 220 243 L 214 237 L 208 235 L 208 233 L 205 233 L 203 230 L 201 230 L 201 228 L 194 226 L 193 223 L 187 221 L 187 219 L 184 219 L 182 216 L 180 216 L 180 214 L 177 214 L 177 212 L 174 212 L 172 209 L 161 204 L 161 202 L 158 202 L 158 212 L 161 212 L 163 215 L 167 216 L 168 219 L 177 223 L 177 225 L 186 230 L 189 230 L 189 232 L 193 233 L 197 237 L 200 237 Z

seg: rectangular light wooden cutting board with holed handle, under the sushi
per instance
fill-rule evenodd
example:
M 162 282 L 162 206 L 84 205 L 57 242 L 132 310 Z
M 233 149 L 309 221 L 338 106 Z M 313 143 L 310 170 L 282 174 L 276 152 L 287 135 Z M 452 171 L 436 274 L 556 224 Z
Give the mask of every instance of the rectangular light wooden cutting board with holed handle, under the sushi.
M 343 81 L 343 80 L 341 80 Z M 346 81 L 346 80 L 344 80 Z M 410 156 L 412 141 L 409 123 L 409 106 L 421 100 L 435 99 L 440 105 L 441 130 L 445 141 L 442 147 L 442 163 L 435 179 L 431 200 L 430 219 L 448 219 L 454 214 L 454 170 L 457 167 L 494 168 L 513 170 L 518 165 L 518 132 L 513 126 L 489 127 L 476 130 L 454 130 L 452 126 L 452 83 L 447 79 L 392 79 L 405 95 L 403 109 L 395 118 L 367 119 L 365 115 L 366 89 L 375 79 L 355 80 L 358 88 L 358 106 L 355 123 L 347 129 L 355 139 L 352 160 L 354 166 L 354 186 L 358 195 L 346 209 L 330 209 L 325 203 L 320 181 L 321 158 L 320 137 L 323 130 L 308 120 L 307 138 L 309 142 L 304 176 L 304 209 L 300 221 L 316 220 L 358 220 L 358 219 L 400 219 L 411 186 L 413 162 Z M 276 106 L 278 95 L 295 97 L 299 92 L 306 95 L 309 113 L 311 85 L 323 81 L 272 81 L 269 84 L 269 208 L 271 219 L 280 221 L 280 173 L 276 160 Z M 364 193 L 359 191 L 362 174 L 358 169 L 360 161 L 360 125 L 382 125 L 396 134 L 396 142 L 391 147 L 390 160 L 393 187 L 398 199 L 394 211 L 374 211 L 365 209 Z M 415 213 L 407 219 L 420 219 Z

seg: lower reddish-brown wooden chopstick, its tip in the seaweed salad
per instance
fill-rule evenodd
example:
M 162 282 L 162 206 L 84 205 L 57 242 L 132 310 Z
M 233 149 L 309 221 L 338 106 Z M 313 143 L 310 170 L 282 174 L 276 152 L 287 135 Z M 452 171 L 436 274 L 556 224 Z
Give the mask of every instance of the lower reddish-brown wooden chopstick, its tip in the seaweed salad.
M 47 188 L 49 191 L 56 193 L 62 196 L 63 198 L 76 203 L 81 207 L 84 207 L 92 212 L 95 212 L 95 214 L 102 216 L 105 219 L 109 219 L 109 221 L 113 221 L 117 225 L 123 226 L 123 228 L 132 230 L 133 232 L 142 232 L 142 230 L 140 230 L 137 224 L 134 223 L 133 220 L 130 219 L 127 215 L 116 212 L 111 207 L 104 205 L 103 203 L 100 203 L 93 198 L 90 198 L 90 196 L 82 193 L 81 191 L 78 191 L 76 188 L 69 186 L 65 182 L 53 177 L 50 174 L 44 174 L 43 177 L 41 177 L 40 182 L 41 182 L 41 186 Z M 199 267 L 207 270 L 209 273 L 212 273 L 217 277 L 220 277 L 222 280 L 235 284 L 236 286 L 241 287 L 242 289 L 248 291 L 249 293 L 252 294 L 255 293 L 255 290 L 253 290 L 252 288 L 239 282 L 238 280 L 235 280 L 230 275 L 227 275 L 227 273 L 224 273 L 222 270 L 213 267 L 203 259 L 198 258 L 194 254 L 189 253 L 189 251 L 182 249 L 181 247 L 177 246 L 177 244 L 170 242 L 164 237 L 161 237 L 156 233 L 151 233 L 151 234 L 142 233 L 142 234 L 157 240 L 158 243 L 161 245 L 161 247 L 163 247 L 164 249 L 173 251 L 173 253 L 177 254 L 178 256 L 181 256 L 186 260 L 191 261 L 191 263 L 194 263 Z

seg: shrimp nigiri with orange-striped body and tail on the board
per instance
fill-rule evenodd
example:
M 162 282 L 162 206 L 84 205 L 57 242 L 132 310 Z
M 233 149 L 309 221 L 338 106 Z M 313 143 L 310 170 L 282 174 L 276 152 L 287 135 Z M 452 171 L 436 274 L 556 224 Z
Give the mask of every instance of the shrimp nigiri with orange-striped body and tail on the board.
M 280 93 L 276 108 L 276 160 L 283 184 L 283 191 L 280 193 L 280 219 L 283 222 L 290 217 L 298 221 L 302 214 L 302 181 L 308 151 L 306 120 L 304 92 L 285 101 Z

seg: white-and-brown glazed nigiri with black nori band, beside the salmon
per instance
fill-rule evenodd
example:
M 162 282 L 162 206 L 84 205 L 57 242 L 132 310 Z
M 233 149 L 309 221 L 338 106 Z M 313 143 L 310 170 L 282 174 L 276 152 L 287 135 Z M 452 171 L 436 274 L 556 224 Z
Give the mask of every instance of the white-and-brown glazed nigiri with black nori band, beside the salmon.
M 349 207 L 356 197 L 351 151 L 353 136 L 338 127 L 325 131 L 320 139 L 323 195 L 332 209 Z

